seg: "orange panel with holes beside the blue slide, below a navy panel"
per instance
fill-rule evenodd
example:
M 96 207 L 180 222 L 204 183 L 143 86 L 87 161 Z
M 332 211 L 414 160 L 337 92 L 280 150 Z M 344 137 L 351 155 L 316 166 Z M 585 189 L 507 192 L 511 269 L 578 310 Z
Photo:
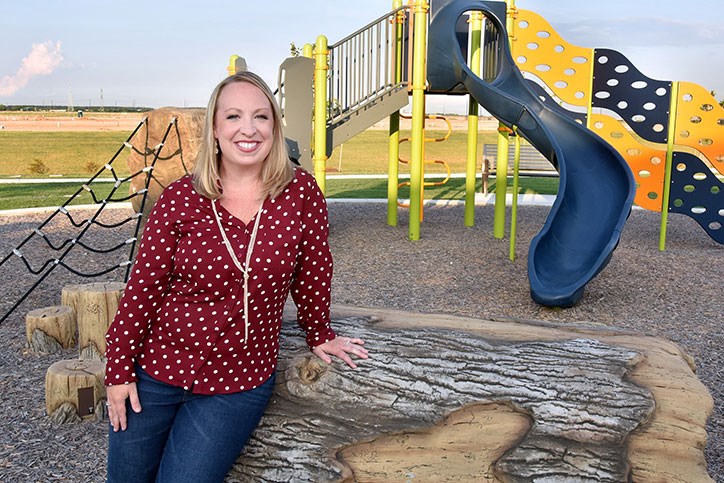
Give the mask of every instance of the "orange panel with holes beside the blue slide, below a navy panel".
M 634 203 L 647 210 L 661 211 L 666 147 L 644 146 L 621 121 L 603 114 L 591 116 L 591 130 L 626 159 L 636 180 Z

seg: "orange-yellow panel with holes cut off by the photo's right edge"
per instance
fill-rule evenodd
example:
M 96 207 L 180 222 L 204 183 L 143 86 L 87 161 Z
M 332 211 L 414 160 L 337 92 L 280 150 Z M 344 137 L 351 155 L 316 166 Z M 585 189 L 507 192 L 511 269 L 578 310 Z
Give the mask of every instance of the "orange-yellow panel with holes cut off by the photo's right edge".
M 701 152 L 724 174 L 724 109 L 700 85 L 679 83 L 674 143 Z

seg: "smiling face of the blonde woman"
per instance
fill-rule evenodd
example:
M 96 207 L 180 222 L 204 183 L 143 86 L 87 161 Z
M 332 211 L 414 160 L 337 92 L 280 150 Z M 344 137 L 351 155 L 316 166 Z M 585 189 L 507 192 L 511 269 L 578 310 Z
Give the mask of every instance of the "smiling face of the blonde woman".
M 258 87 L 234 82 L 223 88 L 214 115 L 222 173 L 261 170 L 272 148 L 273 133 L 274 111 Z

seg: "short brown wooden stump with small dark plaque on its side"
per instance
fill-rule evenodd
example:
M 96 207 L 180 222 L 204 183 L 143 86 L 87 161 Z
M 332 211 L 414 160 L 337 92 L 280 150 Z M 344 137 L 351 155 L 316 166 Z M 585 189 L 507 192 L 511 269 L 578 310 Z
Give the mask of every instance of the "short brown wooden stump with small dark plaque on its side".
M 105 364 L 99 360 L 63 360 L 45 374 L 45 409 L 57 423 L 103 417 Z

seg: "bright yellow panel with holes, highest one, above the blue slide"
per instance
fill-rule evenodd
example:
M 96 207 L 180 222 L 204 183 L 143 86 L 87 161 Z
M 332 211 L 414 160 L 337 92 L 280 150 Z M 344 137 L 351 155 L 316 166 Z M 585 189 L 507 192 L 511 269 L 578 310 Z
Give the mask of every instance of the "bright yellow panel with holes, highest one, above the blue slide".
M 511 50 L 518 68 L 541 79 L 562 101 L 590 104 L 593 49 L 569 44 L 543 17 L 518 10 Z

